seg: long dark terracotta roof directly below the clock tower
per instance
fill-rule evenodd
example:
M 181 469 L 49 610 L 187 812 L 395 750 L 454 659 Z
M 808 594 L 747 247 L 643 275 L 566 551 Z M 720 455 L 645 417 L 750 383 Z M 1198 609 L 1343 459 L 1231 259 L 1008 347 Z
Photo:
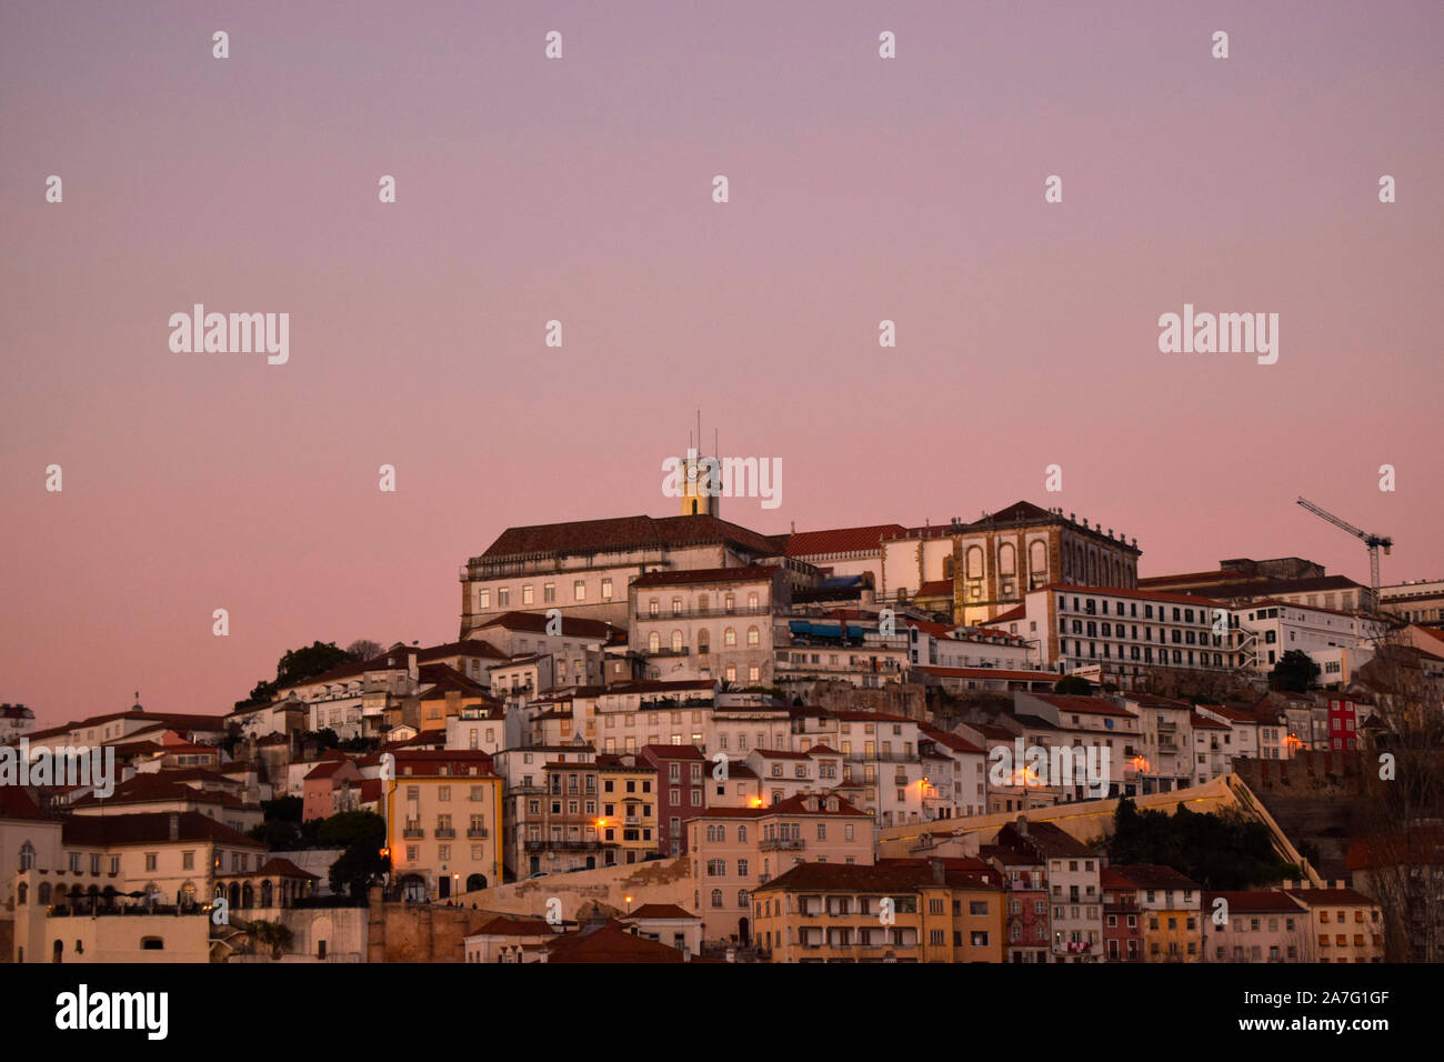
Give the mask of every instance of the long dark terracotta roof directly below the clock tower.
M 507 527 L 477 559 L 537 553 L 605 553 L 628 549 L 679 549 L 728 543 L 761 556 L 781 556 L 786 535 L 758 535 L 715 516 L 618 516 L 531 527 Z

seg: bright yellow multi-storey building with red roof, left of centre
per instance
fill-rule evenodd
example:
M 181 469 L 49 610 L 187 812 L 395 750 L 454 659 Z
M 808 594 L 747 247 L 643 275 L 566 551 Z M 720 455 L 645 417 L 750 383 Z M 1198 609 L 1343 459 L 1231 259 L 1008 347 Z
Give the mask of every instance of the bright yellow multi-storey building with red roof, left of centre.
M 501 883 L 503 779 L 471 750 L 399 751 L 381 783 L 391 881 L 445 900 Z

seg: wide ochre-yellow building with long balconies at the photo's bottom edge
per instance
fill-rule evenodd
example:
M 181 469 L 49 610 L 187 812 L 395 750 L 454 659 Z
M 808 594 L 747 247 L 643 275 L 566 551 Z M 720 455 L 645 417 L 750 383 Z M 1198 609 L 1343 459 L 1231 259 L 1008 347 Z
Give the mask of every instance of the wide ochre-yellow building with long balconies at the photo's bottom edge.
M 1002 962 L 1005 897 L 978 860 L 801 863 L 752 892 L 774 962 Z

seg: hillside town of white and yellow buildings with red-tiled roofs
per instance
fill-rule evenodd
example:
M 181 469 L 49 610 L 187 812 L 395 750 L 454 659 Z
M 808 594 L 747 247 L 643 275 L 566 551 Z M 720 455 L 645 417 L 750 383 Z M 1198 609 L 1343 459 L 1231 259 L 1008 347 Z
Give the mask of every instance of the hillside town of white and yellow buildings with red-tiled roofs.
M 1141 553 L 1028 501 L 508 527 L 453 642 L 209 715 L 4 705 L 58 767 L 0 785 L 0 954 L 1438 961 L 1444 581 Z M 1170 822 L 1261 855 L 1136 858 Z

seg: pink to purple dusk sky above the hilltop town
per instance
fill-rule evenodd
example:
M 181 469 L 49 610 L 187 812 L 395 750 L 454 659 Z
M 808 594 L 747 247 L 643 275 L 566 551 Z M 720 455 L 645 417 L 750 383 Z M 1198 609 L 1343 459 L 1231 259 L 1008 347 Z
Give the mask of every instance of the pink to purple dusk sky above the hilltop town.
M 1444 7 L 1092 7 L 7 3 L 0 698 L 221 712 L 290 646 L 455 637 L 505 526 L 673 513 L 697 406 L 783 458 L 723 501 L 764 532 L 1030 498 L 1144 574 L 1366 579 L 1302 493 L 1444 575 Z M 290 312 L 290 364 L 172 354 L 193 302 Z M 1279 363 L 1160 354 L 1184 302 Z

